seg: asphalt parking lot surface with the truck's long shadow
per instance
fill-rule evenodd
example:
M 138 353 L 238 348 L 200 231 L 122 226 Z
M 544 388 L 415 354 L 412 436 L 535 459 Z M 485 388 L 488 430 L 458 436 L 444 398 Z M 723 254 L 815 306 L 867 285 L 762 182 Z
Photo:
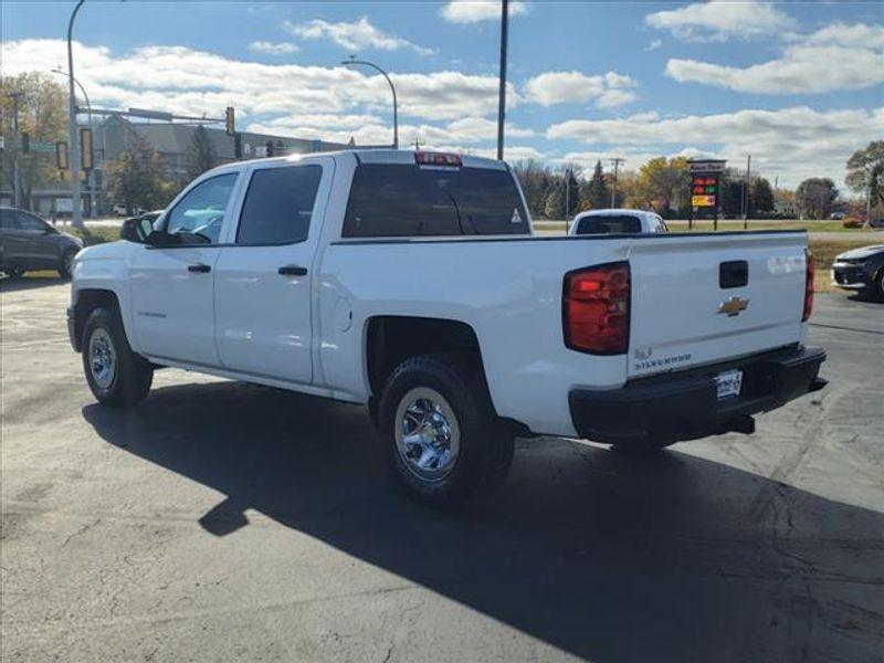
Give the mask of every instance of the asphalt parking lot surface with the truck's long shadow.
M 440 514 L 352 406 L 179 370 L 97 406 L 69 286 L 0 290 L 3 661 L 884 657 L 884 305 L 818 297 L 831 383 L 755 435 L 520 441 Z

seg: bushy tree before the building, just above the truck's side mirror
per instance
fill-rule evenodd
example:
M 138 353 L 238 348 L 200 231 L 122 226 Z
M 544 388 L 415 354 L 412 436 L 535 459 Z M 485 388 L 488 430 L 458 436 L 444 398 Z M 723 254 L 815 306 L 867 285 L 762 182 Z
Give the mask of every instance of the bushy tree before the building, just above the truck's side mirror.
M 108 169 L 107 188 L 113 199 L 126 206 L 129 213 L 135 208 L 166 207 L 177 189 L 166 177 L 159 152 L 138 136 Z

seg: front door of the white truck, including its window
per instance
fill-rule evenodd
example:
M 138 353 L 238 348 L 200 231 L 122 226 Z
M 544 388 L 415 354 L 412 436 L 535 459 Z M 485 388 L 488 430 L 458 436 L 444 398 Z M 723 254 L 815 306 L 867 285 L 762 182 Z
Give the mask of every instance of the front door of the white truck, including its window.
M 198 180 L 160 221 L 180 243 L 144 245 L 129 272 L 137 350 L 186 364 L 218 366 L 214 265 L 238 172 Z

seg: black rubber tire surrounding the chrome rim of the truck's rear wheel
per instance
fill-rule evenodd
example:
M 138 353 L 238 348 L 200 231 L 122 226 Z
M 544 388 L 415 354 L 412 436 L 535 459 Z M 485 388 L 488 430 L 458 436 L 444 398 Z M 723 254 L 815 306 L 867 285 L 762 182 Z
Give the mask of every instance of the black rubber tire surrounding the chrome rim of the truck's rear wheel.
M 418 391 L 415 391 L 418 390 Z M 434 391 L 454 417 L 459 452 L 441 476 L 419 476 L 414 462 L 399 451 L 400 408 L 414 393 Z M 422 399 L 421 399 L 422 400 Z M 513 463 L 514 436 L 497 419 L 478 362 L 457 354 L 407 359 L 390 375 L 378 402 L 378 430 L 383 455 L 397 480 L 423 502 L 457 507 L 490 496 Z M 403 434 L 403 433 L 400 433 Z

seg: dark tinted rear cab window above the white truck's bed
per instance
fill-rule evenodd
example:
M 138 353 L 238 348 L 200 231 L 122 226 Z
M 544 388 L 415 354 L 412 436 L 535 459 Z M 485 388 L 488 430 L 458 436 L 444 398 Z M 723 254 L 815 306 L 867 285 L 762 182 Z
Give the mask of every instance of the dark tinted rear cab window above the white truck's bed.
M 481 167 L 360 164 L 345 238 L 530 234 L 513 175 Z

